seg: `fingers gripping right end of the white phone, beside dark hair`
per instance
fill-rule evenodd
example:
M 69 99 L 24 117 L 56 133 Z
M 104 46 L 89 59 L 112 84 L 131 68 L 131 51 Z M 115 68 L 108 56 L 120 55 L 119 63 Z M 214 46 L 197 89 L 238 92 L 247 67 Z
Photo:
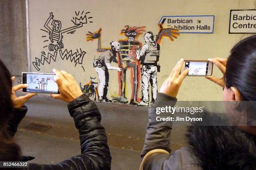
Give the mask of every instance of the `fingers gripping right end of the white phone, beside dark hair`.
M 210 62 L 213 62 L 220 69 L 220 71 L 223 73 L 223 77 L 216 78 L 213 76 L 205 76 L 205 78 L 208 80 L 211 80 L 212 82 L 215 82 L 216 84 L 218 84 L 224 88 L 225 87 L 224 75 L 226 72 L 227 59 L 225 59 L 225 58 L 209 58 L 208 60 Z

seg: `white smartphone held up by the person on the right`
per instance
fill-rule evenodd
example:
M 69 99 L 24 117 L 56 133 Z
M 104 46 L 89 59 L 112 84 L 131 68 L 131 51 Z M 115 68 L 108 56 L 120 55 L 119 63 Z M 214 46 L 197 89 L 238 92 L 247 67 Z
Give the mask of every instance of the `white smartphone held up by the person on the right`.
M 213 63 L 208 60 L 184 60 L 181 73 L 189 68 L 187 76 L 210 76 L 212 75 Z

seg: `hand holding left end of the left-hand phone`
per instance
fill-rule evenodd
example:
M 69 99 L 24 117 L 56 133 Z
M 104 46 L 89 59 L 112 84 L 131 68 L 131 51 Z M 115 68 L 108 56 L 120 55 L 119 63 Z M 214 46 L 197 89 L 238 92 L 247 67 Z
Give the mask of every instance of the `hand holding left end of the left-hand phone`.
M 15 80 L 15 77 L 11 77 L 12 81 Z M 16 108 L 16 109 L 19 109 L 20 107 L 22 107 L 24 105 L 24 103 L 30 99 L 31 97 L 33 97 L 34 95 L 37 95 L 36 93 L 29 93 L 27 95 L 24 95 L 24 96 L 20 96 L 20 97 L 17 97 L 15 95 L 15 92 L 19 89 L 22 89 L 22 88 L 26 88 L 28 87 L 27 84 L 20 84 L 20 85 L 15 85 L 13 86 L 12 88 L 12 94 L 11 94 L 11 98 L 13 100 L 13 107 Z

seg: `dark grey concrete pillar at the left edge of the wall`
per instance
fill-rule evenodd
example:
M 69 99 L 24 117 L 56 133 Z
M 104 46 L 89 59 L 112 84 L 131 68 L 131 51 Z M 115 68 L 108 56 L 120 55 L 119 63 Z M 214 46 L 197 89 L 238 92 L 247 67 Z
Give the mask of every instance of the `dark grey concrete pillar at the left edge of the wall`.
M 0 23 L 0 59 L 21 75 L 28 71 L 25 0 L 1 0 Z

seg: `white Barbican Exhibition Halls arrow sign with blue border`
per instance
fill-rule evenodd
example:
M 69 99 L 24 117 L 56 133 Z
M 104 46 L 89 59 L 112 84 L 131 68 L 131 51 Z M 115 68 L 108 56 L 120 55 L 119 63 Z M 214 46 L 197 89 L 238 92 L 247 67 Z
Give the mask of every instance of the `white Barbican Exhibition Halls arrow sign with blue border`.
M 214 15 L 162 16 L 159 24 L 180 33 L 213 33 Z

